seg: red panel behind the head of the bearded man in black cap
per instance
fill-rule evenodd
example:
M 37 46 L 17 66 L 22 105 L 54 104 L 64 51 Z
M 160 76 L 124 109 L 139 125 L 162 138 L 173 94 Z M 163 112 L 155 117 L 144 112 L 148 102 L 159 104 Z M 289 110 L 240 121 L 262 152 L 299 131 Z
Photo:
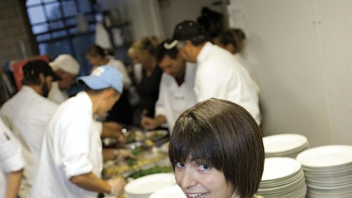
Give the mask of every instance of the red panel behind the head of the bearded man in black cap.
M 13 73 L 13 76 L 14 76 L 14 79 L 15 79 L 15 82 L 16 82 L 17 90 L 20 90 L 22 88 L 22 83 L 21 83 L 21 80 L 22 80 L 22 77 L 23 77 L 22 67 L 26 63 L 28 63 L 29 61 L 35 61 L 35 60 L 43 60 L 46 63 L 49 63 L 50 57 L 49 57 L 49 55 L 35 56 L 35 57 L 31 57 L 31 58 L 26 59 L 26 60 L 22 60 L 22 61 L 16 62 L 16 63 L 11 65 L 12 66 L 12 73 Z

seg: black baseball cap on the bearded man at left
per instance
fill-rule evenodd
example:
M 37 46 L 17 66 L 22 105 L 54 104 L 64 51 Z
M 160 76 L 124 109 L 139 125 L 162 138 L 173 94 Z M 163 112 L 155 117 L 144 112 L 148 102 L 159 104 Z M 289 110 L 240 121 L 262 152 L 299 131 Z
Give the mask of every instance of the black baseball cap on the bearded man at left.
M 51 69 L 45 61 L 42 60 L 35 60 L 29 61 L 23 67 L 23 74 L 24 76 L 39 76 L 40 73 L 43 73 L 44 76 L 51 76 L 53 81 L 61 80 L 61 78 Z

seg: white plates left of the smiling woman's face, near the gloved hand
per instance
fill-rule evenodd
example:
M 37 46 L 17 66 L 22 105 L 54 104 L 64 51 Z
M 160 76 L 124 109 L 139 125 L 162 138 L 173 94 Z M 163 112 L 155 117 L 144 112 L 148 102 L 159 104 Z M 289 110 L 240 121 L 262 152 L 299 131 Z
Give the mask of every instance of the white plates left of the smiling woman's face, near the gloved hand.
M 155 191 L 176 184 L 175 175 L 171 173 L 158 173 L 142 176 L 132 180 L 125 186 L 126 198 L 149 198 Z

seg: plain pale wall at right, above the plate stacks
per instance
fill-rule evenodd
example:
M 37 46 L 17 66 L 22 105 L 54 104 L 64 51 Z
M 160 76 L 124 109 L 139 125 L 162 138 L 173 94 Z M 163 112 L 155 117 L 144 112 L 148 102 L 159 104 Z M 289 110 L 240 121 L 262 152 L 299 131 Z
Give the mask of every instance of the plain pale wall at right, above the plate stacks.
M 351 145 L 352 1 L 234 1 L 245 15 L 245 58 L 261 87 L 264 135 Z

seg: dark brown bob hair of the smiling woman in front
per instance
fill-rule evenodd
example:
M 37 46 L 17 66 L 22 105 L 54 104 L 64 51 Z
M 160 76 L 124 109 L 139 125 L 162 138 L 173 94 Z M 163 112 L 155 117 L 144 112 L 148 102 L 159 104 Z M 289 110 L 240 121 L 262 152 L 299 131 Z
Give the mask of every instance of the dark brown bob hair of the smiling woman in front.
M 170 140 L 170 161 L 191 160 L 214 167 L 241 198 L 257 192 L 264 169 L 262 132 L 241 106 L 208 99 L 183 112 Z

